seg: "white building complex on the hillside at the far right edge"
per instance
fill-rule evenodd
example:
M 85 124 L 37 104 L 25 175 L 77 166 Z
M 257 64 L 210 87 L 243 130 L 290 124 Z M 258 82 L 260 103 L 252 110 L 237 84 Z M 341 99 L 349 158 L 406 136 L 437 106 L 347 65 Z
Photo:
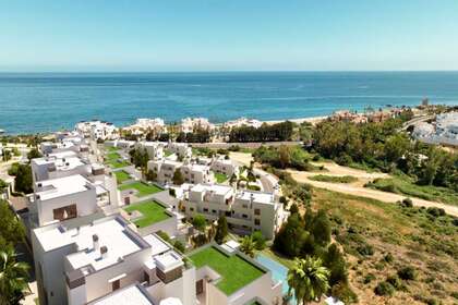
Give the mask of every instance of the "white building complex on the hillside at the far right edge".
M 415 124 L 412 136 L 430 144 L 458 146 L 458 112 L 437 114 L 433 123 Z

